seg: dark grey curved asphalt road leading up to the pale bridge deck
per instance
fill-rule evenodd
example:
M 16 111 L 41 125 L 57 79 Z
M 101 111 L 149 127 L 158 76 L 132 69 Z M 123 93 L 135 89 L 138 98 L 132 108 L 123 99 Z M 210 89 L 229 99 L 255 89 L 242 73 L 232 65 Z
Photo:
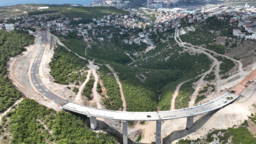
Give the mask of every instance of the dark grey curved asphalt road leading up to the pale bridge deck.
M 46 32 L 43 31 L 43 33 L 41 33 L 42 36 L 42 40 L 41 40 L 41 44 L 39 47 L 39 50 L 36 54 L 32 69 L 31 69 L 31 78 L 32 81 L 36 87 L 36 89 L 43 94 L 45 97 L 47 97 L 48 99 L 54 101 L 55 103 L 59 104 L 59 105 L 64 105 L 66 103 L 68 103 L 67 100 L 61 99 L 60 97 L 56 96 L 55 94 L 53 94 L 52 92 L 50 92 L 45 86 L 44 84 L 41 82 L 41 79 L 39 77 L 39 65 L 42 59 L 42 56 L 44 54 L 44 48 L 45 48 L 45 41 L 46 41 Z

